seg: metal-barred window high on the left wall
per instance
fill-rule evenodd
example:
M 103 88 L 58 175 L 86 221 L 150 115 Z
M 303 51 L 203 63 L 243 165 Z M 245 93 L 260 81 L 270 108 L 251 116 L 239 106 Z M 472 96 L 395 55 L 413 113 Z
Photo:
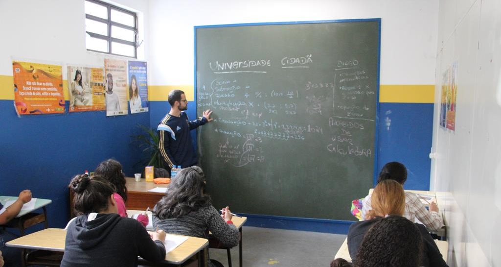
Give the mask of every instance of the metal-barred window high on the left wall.
M 137 14 L 98 0 L 85 0 L 87 50 L 137 58 Z

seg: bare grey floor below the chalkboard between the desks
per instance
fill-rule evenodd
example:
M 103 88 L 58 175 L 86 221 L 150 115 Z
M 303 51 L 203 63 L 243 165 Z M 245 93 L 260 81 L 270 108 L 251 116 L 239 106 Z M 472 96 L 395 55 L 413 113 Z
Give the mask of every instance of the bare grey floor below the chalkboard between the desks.
M 260 227 L 242 228 L 245 267 L 322 267 L 329 266 L 346 235 L 282 230 Z M 4 236 L 6 241 L 12 236 Z M 210 258 L 228 266 L 225 249 L 210 249 Z M 21 266 L 21 251 L 6 247 L 6 267 Z M 233 267 L 238 267 L 238 247 L 231 249 Z

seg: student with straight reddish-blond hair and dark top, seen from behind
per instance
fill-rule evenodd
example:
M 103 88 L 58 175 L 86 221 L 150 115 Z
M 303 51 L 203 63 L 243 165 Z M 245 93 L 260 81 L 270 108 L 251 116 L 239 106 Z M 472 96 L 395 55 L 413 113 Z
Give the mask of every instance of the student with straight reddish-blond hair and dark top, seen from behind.
M 353 260 L 359 257 L 360 244 L 365 241 L 365 235 L 367 231 L 378 222 L 381 218 L 396 215 L 403 216 L 405 210 L 405 193 L 401 184 L 394 180 L 383 180 L 376 185 L 374 192 L 372 193 L 372 210 L 367 213 L 368 220 L 355 222 L 350 226 L 348 230 L 348 252 Z M 419 223 L 414 223 L 418 231 L 415 234 L 420 234 L 422 237 L 423 250 L 421 253 L 421 265 L 425 267 L 435 267 L 435 266 L 447 266 L 447 263 L 442 258 L 440 251 L 436 243 L 431 238 L 426 228 Z M 408 234 L 407 234 L 408 235 Z M 388 233 L 388 242 L 392 242 L 392 238 L 409 238 L 409 236 L 403 234 L 395 234 L 394 236 Z M 388 250 L 390 254 L 400 254 L 404 251 Z M 355 261 L 354 261 L 355 262 Z

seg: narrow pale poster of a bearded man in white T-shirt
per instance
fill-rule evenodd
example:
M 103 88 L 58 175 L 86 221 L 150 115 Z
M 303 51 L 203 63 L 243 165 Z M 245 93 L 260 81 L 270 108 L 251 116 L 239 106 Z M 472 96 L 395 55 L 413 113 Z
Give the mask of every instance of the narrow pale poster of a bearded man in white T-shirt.
M 104 60 L 106 116 L 127 115 L 127 62 Z

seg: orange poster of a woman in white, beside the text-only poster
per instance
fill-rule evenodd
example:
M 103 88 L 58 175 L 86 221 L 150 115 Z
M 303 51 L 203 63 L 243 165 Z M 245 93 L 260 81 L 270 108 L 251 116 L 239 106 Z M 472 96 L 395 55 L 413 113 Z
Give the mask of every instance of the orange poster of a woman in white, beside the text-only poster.
M 68 66 L 70 112 L 105 110 L 103 68 Z

